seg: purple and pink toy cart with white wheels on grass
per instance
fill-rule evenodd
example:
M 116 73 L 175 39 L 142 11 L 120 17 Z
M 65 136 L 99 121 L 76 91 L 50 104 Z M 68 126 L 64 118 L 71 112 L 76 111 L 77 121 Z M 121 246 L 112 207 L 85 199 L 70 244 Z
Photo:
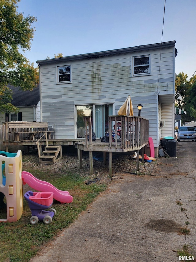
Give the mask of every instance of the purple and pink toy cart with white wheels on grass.
M 31 209 L 32 217 L 30 223 L 35 225 L 38 221 L 43 221 L 44 224 L 50 224 L 52 217 L 55 216 L 56 210 L 54 208 L 49 211 L 44 210 L 51 207 L 53 202 L 53 193 L 51 192 L 32 192 L 28 191 L 24 194 Z

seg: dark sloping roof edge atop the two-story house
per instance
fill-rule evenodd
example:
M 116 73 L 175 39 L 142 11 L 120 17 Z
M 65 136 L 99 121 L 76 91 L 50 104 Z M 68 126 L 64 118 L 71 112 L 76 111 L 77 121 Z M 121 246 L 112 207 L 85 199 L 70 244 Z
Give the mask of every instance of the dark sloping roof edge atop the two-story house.
M 135 53 L 135 52 L 142 52 L 142 51 L 148 51 L 148 50 L 150 51 L 150 50 L 156 50 L 156 49 L 165 49 L 165 48 L 170 48 L 174 46 L 175 46 L 175 41 L 169 41 L 169 42 L 163 42 L 163 43 L 157 43 L 157 44 L 138 45 L 134 47 L 113 49 L 113 50 L 108 50 L 108 51 L 87 53 L 87 54 L 74 55 L 74 56 L 68 56 L 68 57 L 57 57 L 57 58 L 52 58 L 52 59 L 44 59 L 44 60 L 38 60 L 36 61 L 36 63 L 38 63 L 38 65 L 41 65 L 41 64 L 53 64 L 53 63 L 58 63 L 58 62 L 66 62 L 66 61 L 74 61 L 74 60 L 95 59 L 95 58 L 114 56 L 114 55 L 119 55 L 119 54 Z M 177 53 L 177 50 L 175 53 Z

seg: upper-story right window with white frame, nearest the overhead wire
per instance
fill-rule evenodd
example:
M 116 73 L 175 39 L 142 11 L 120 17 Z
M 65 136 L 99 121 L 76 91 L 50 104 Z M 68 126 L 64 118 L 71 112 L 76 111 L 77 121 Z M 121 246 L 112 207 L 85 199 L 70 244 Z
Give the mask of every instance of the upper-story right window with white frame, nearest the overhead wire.
M 149 75 L 150 73 L 150 55 L 133 57 L 133 75 Z

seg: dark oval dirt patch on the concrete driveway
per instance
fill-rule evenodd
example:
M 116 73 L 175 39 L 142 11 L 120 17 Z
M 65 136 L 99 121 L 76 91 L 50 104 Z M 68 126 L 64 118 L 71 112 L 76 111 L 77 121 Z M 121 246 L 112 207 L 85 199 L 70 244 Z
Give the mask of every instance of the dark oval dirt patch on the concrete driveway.
M 145 224 L 145 226 L 149 229 L 165 233 L 177 233 L 179 232 L 179 229 L 182 228 L 180 224 L 169 219 L 150 220 L 147 224 Z

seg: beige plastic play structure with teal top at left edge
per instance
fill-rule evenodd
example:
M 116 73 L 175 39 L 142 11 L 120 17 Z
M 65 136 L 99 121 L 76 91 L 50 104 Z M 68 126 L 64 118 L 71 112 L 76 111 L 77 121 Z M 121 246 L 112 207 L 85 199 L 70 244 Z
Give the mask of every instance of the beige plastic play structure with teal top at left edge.
M 21 150 L 17 153 L 0 151 L 0 163 L 0 208 L 6 206 L 7 210 L 7 218 L 0 219 L 0 222 L 15 222 L 21 218 L 23 211 Z

